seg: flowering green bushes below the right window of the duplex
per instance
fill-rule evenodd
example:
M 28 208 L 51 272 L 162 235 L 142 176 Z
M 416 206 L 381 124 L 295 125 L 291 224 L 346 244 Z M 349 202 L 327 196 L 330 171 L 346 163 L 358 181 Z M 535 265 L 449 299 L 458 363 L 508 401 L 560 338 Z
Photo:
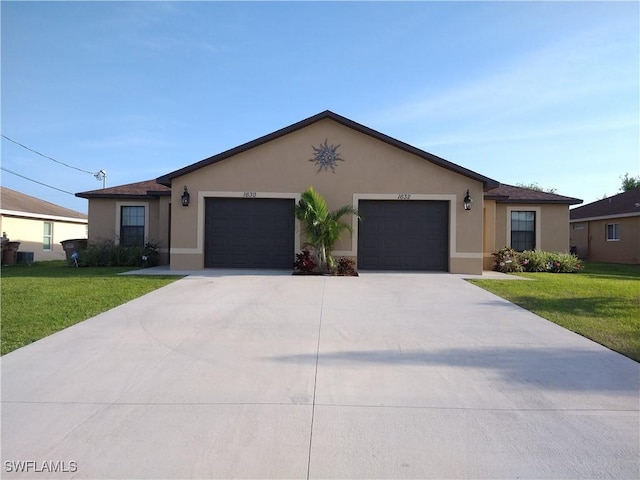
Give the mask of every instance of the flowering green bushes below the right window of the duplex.
M 582 269 L 580 259 L 571 253 L 525 250 L 516 252 L 505 247 L 493 254 L 494 270 L 510 272 L 575 273 Z

